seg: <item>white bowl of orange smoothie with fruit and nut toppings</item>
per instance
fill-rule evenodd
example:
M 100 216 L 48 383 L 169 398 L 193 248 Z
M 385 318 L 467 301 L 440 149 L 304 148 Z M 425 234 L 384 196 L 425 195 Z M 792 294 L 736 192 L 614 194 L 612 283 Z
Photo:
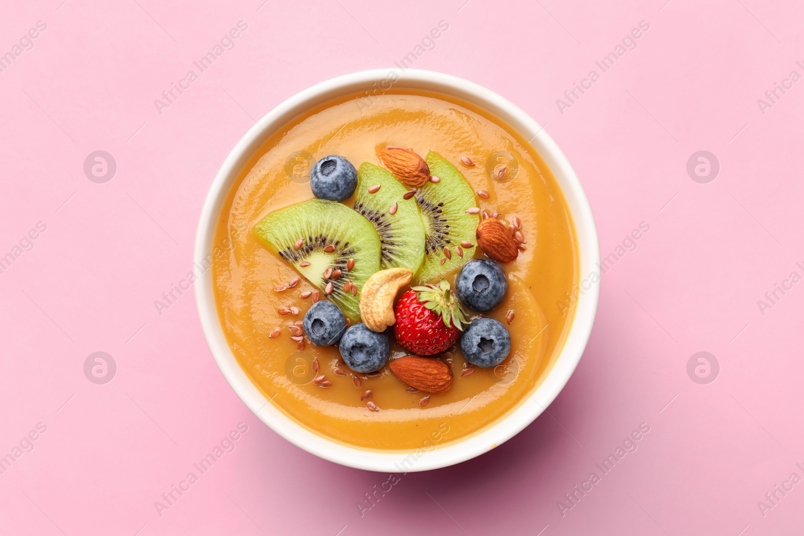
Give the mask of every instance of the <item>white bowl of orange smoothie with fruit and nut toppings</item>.
M 592 329 L 598 286 L 579 284 L 598 260 L 580 183 L 526 113 L 378 70 L 240 140 L 203 206 L 195 293 L 215 361 L 270 428 L 338 464 L 421 471 L 552 403 Z

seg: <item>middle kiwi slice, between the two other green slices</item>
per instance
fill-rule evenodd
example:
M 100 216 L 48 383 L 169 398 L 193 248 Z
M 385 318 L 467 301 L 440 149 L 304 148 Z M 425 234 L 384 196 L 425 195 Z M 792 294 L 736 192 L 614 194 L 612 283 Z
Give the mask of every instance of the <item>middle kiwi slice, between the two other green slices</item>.
M 370 194 L 368 189 L 379 186 Z M 385 268 L 408 268 L 411 272 L 425 259 L 425 227 L 419 207 L 403 196 L 408 191 L 388 170 L 363 162 L 357 174 L 355 211 L 374 226 L 382 243 L 379 264 Z M 391 207 L 396 203 L 396 213 Z

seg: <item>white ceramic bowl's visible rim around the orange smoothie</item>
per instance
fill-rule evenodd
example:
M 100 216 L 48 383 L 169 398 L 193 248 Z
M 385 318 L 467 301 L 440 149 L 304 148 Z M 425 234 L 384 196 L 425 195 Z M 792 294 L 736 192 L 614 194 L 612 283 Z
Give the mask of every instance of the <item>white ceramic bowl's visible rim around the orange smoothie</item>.
M 232 149 L 224 165 L 220 167 L 215 181 L 212 182 L 201 211 L 198 234 L 195 238 L 195 261 L 199 265 L 203 264 L 203 260 L 210 254 L 215 222 L 223 207 L 224 198 L 232 187 L 238 172 L 252 153 L 265 141 L 269 133 L 317 104 L 344 94 L 370 90 L 374 84 L 377 84 L 376 87 L 387 87 L 388 80 L 393 80 L 394 77 L 399 79 L 393 83 L 394 88 L 428 89 L 456 96 L 485 108 L 519 131 L 526 140 L 532 138 L 531 145 L 550 166 L 561 190 L 564 191 L 572 213 L 576 238 L 580 243 L 580 275 L 583 278 L 597 272 L 596 263 L 600 260 L 600 250 L 592 210 L 575 171 L 572 170 L 564 153 L 552 141 L 548 133 L 539 127 L 527 113 L 486 88 L 455 76 L 416 69 L 408 69 L 404 72 L 396 69 L 377 69 L 339 76 L 306 89 L 273 108 Z M 384 81 L 385 85 L 383 85 Z M 229 350 L 215 309 L 211 271 L 207 270 L 195 281 L 195 299 L 198 304 L 199 317 L 215 362 L 218 363 L 232 389 L 257 417 L 286 440 L 325 460 L 350 467 L 388 473 L 407 472 L 408 470 L 425 471 L 469 460 L 511 439 L 533 422 L 544 411 L 544 408 L 556 399 L 580 361 L 580 355 L 583 354 L 586 342 L 589 340 L 589 333 L 592 331 L 598 294 L 598 284 L 584 289 L 577 301 L 575 317 L 572 320 L 568 338 L 552 370 L 549 371 L 543 382 L 531 392 L 531 395 L 526 397 L 506 417 L 482 432 L 447 446 L 430 446 L 412 453 L 375 452 L 338 444 L 324 436 L 310 432 L 273 404 L 268 403 L 269 401 L 248 379 L 232 351 Z

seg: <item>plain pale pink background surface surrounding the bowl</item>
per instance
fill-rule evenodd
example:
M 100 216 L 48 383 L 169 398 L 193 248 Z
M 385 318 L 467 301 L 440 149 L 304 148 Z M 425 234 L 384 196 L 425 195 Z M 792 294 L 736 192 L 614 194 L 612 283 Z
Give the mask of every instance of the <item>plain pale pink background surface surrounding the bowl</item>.
M 0 255 L 47 224 L 0 274 L 0 456 L 47 425 L 0 475 L 0 533 L 801 530 L 804 484 L 765 517 L 757 507 L 804 477 L 804 284 L 757 307 L 804 275 L 804 81 L 757 106 L 804 74 L 798 2 L 61 2 L 6 2 L 0 17 L 2 52 L 47 23 L 0 73 Z M 239 20 L 236 48 L 160 116 L 154 99 Z M 388 475 L 281 439 L 219 373 L 192 293 L 161 317 L 154 300 L 191 269 L 207 188 L 256 118 L 322 80 L 392 66 L 441 20 L 449 30 L 415 67 L 547 124 L 604 255 L 640 222 L 650 231 L 604 276 L 589 346 L 549 414 L 478 459 L 402 477 L 361 518 L 355 503 Z M 556 99 L 641 20 L 638 48 L 562 115 Z M 117 161 L 105 184 L 84 176 L 98 149 Z M 686 172 L 701 149 L 720 160 L 708 184 Z M 99 350 L 117 362 L 106 385 L 84 377 Z M 687 376 L 701 350 L 720 362 L 709 385 Z M 160 517 L 154 501 L 240 422 L 236 450 Z M 638 451 L 562 518 L 556 501 L 642 422 Z

